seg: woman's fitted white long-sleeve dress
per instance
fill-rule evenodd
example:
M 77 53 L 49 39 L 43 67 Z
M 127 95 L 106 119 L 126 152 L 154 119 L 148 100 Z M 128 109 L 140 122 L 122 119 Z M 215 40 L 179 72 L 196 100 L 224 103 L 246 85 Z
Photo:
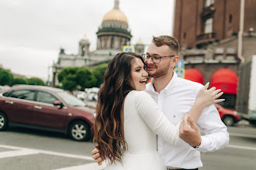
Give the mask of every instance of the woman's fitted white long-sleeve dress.
M 171 145 L 179 145 L 178 127 L 164 116 L 152 97 L 144 91 L 133 90 L 124 101 L 124 137 L 128 151 L 119 162 L 105 170 L 164 170 L 166 167 L 157 153 L 157 135 Z

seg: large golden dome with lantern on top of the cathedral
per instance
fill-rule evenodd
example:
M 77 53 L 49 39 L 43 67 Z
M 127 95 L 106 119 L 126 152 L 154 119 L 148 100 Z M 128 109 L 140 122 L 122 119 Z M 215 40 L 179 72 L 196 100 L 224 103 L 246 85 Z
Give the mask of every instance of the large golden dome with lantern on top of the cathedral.
M 126 24 L 128 24 L 126 15 L 124 15 L 124 13 L 119 9 L 119 1 L 118 0 L 115 0 L 114 8 L 111 11 L 107 12 L 103 18 L 103 22 L 109 21 L 109 20 L 125 22 Z

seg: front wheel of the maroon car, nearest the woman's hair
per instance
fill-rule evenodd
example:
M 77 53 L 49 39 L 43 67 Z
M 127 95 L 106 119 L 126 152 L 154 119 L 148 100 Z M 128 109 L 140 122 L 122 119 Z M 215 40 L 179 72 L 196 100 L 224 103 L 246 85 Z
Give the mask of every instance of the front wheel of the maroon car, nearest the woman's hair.
M 69 136 L 74 141 L 87 141 L 90 136 L 88 124 L 84 121 L 75 121 L 69 128 Z

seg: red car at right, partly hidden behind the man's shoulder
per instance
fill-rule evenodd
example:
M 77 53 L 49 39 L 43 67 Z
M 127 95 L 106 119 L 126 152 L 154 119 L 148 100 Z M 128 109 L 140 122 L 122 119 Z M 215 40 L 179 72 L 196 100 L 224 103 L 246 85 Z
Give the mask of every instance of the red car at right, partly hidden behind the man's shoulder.
M 221 120 L 227 126 L 233 126 L 235 123 L 241 120 L 241 117 L 237 111 L 224 108 L 220 104 L 215 104 L 215 106 L 219 111 Z

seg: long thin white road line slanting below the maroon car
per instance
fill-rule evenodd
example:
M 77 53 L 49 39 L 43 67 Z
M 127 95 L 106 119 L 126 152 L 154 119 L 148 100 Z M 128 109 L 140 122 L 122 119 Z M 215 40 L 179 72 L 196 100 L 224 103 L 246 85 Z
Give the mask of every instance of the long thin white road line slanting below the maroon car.
M 22 147 L 10 146 L 10 145 L 0 145 L 0 148 L 30 150 L 30 151 L 36 151 L 40 154 L 56 155 L 56 156 L 62 156 L 62 157 L 67 157 L 67 158 L 79 158 L 79 159 L 84 159 L 84 160 L 88 160 L 88 161 L 94 161 L 94 159 L 89 156 L 67 154 L 67 153 L 56 152 L 56 151 L 45 151 L 45 150 L 39 150 L 39 149 L 33 149 L 33 148 L 22 148 Z

